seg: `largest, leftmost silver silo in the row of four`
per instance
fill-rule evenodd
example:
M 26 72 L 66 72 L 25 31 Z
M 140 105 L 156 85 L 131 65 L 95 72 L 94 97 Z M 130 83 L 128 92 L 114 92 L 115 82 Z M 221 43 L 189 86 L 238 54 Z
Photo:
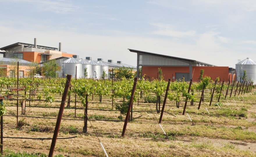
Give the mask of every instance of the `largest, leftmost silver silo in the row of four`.
M 77 78 L 81 78 L 82 63 L 80 63 L 73 57 L 62 62 L 62 75 L 65 77 L 65 74 L 70 74 L 72 75 L 72 78 L 75 78 L 76 66 L 77 66 Z

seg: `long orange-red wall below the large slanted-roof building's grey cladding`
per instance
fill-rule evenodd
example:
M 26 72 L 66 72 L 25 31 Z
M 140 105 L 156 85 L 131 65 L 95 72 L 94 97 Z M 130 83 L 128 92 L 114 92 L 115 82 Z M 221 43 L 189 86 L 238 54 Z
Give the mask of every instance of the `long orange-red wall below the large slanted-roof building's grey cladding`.
M 145 78 L 154 79 L 157 78 L 158 68 L 162 69 L 164 80 L 175 77 L 176 73 L 189 73 L 189 67 L 172 67 L 172 66 L 142 66 L 142 76 Z M 221 80 L 228 81 L 229 73 L 228 67 L 192 67 L 193 81 L 199 81 L 200 70 L 204 69 L 204 76 L 210 76 L 212 80 L 216 77 L 220 77 Z

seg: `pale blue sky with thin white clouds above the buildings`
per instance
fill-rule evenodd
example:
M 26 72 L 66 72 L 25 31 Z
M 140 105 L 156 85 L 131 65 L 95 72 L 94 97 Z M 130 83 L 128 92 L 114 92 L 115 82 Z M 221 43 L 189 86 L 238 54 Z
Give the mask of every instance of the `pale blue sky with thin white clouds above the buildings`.
M 128 49 L 234 67 L 256 61 L 254 0 L 0 0 L 0 47 L 34 43 L 136 66 Z

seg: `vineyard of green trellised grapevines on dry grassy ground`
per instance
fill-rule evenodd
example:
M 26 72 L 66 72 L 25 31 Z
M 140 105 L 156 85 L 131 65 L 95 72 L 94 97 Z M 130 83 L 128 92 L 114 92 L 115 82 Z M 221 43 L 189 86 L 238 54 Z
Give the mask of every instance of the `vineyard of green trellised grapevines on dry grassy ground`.
M 0 84 L 3 154 L 49 154 L 65 104 L 54 155 L 256 155 L 253 82 L 1 77 Z

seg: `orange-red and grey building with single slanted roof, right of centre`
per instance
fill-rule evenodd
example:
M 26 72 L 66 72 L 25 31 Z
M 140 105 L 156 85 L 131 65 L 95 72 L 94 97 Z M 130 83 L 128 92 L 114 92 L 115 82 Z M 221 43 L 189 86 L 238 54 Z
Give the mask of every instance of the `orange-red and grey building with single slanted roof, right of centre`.
M 233 68 L 218 67 L 191 59 L 128 50 L 137 53 L 137 76 L 139 67 L 141 66 L 142 76 L 150 80 L 158 78 L 158 68 L 161 68 L 165 80 L 168 78 L 171 78 L 173 81 L 182 80 L 184 77 L 185 81 L 189 81 L 190 79 L 199 81 L 201 69 L 204 70 L 204 76 L 210 76 L 212 80 L 215 80 L 217 77 L 221 81 L 234 81 L 235 79 L 235 69 Z

